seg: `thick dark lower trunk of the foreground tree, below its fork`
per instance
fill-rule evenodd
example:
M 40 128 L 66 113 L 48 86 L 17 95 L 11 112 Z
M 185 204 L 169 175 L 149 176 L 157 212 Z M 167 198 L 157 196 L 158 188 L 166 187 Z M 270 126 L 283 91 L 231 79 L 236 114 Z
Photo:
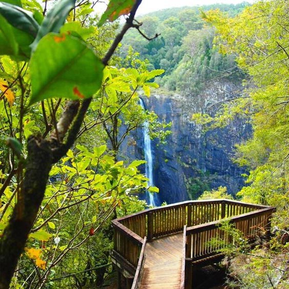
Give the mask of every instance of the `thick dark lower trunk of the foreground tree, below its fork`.
M 51 169 L 52 152 L 46 140 L 31 137 L 28 140 L 26 172 L 20 195 L 9 224 L 0 240 L 0 289 L 9 288 L 17 261 L 24 250 L 44 197 Z

